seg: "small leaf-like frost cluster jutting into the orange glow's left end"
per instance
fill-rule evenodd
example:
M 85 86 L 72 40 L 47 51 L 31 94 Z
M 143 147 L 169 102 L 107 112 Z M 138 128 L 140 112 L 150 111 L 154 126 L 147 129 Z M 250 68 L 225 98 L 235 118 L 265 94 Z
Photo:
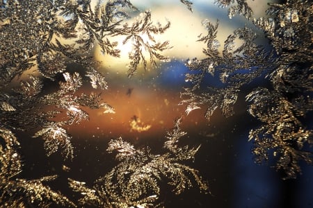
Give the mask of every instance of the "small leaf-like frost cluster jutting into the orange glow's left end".
M 56 93 L 48 94 L 42 99 L 42 103 L 45 105 L 52 105 L 56 107 L 55 110 L 49 110 L 42 115 L 57 116 L 63 109 L 66 112 L 67 120 L 58 122 L 46 122 L 42 125 L 42 130 L 38 131 L 34 137 L 42 137 L 45 140 L 45 148 L 47 149 L 47 155 L 56 152 L 58 146 L 63 149 L 63 155 L 65 158 L 73 157 L 73 147 L 70 143 L 70 135 L 62 127 L 63 125 L 79 124 L 81 121 L 88 120 L 89 114 L 81 109 L 86 106 L 90 109 L 103 108 L 104 113 L 114 113 L 114 108 L 107 103 L 101 103 L 99 95 L 91 93 L 90 95 L 81 94 L 77 95 L 77 89 L 82 86 L 82 80 L 79 73 L 75 72 L 72 75 L 70 73 L 63 73 L 65 82 L 60 82 L 60 89 Z

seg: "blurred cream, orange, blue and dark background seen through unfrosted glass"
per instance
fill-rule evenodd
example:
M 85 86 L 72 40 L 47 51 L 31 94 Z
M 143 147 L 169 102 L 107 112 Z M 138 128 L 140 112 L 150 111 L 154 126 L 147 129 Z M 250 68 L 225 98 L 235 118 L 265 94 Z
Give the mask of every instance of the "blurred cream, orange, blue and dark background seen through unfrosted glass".
M 36 178 L 58 174 L 60 177 L 51 186 L 77 200 L 77 193 L 74 194 L 65 186 L 67 177 L 84 181 L 91 187 L 98 177 L 108 173 L 116 164 L 115 155 L 106 153 L 111 139 L 122 137 L 136 147 L 150 146 L 152 153 L 157 154 L 165 141 L 166 130 L 173 128 L 175 119 L 182 117 L 182 130 L 188 133 L 183 142 L 189 146 L 202 145 L 195 155 L 195 162 L 190 165 L 209 182 L 211 193 L 191 189 L 177 197 L 166 190 L 162 193 L 166 207 L 312 207 L 312 166 L 304 164 L 303 174 L 298 175 L 296 180 L 282 180 L 282 175 L 270 168 L 271 161 L 264 165 L 253 162 L 248 132 L 259 123 L 247 112 L 246 92 L 239 95 L 234 107 L 236 114 L 229 118 L 216 110 L 207 121 L 204 118 L 205 107 L 186 116 L 186 106 L 178 105 L 181 101 L 179 92 L 182 92 L 182 87 L 188 87 L 184 81 L 184 73 L 188 71 L 184 62 L 188 58 L 204 57 L 204 44 L 197 42 L 198 35 L 206 33 L 201 25 L 202 19 L 209 19 L 213 23 L 216 19 L 220 20 L 218 40 L 222 49 L 223 42 L 234 29 L 254 26 L 244 17 L 229 19 L 227 9 L 218 8 L 214 1 L 193 1 L 193 13 L 177 0 L 131 2 L 142 11 L 150 9 L 154 22 L 171 22 L 168 31 L 157 37 L 158 40 L 170 41 L 172 49 L 166 51 L 165 55 L 171 61 L 159 62 L 156 68 L 148 71 L 138 69 L 129 79 L 127 64 L 130 45 L 123 45 L 122 40 L 117 40 L 122 51 L 119 59 L 100 54 L 96 47 L 94 57 L 102 62 L 102 73 L 106 75 L 109 89 L 101 92 L 86 85 L 83 91 L 102 93 L 103 101 L 115 108 L 115 114 L 86 109 L 90 113 L 90 121 L 83 121 L 68 129 L 74 146 L 72 162 L 63 162 L 58 154 L 46 157 L 43 141 L 39 138 L 21 139 L 25 160 L 22 175 Z M 248 3 L 255 17 L 266 15 L 266 1 Z M 259 44 L 268 46 L 262 33 L 257 30 L 256 33 L 259 34 Z M 73 71 L 83 71 L 74 65 L 68 67 Z M 218 79 L 208 78 L 205 82 L 218 83 Z M 255 86 L 256 83 L 250 85 Z

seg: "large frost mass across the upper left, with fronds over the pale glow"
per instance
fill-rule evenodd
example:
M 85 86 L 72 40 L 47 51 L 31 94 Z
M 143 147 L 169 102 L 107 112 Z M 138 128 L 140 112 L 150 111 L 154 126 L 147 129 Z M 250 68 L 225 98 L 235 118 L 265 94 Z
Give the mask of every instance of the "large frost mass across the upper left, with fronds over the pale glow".
M 136 48 L 136 53 L 130 55 L 129 75 L 136 71 L 139 62 L 146 67 L 142 48 L 149 51 L 154 65 L 155 59 L 167 60 L 159 51 L 167 49 L 168 42 L 157 42 L 153 34 L 163 33 L 169 24 L 154 26 L 150 22 L 150 12 L 145 12 L 143 19 L 138 19 L 132 26 L 121 24 L 123 19 L 129 18 L 127 10 L 137 11 L 129 1 L 99 1 L 95 8 L 90 1 L 1 1 L 0 9 L 0 86 L 3 92 L 10 89 L 15 78 L 34 68 L 50 80 L 63 73 L 64 81 L 59 82 L 57 92 L 40 94 L 40 76 L 30 76 L 29 80 L 22 80 L 13 92 L 0 97 L 2 123 L 19 130 L 41 127 L 42 130 L 34 137 L 45 139 L 48 155 L 62 146 L 65 158 L 72 157 L 70 135 L 64 126 L 88 120 L 88 113 L 81 109 L 82 106 L 104 108 L 104 113 L 114 113 L 111 105 L 100 102 L 99 96 L 76 94 L 83 85 L 83 77 L 77 72 L 66 72 L 68 64 L 84 67 L 86 73 L 83 76 L 90 79 L 94 89 L 107 89 L 104 76 L 97 70 L 99 63 L 93 61 L 90 50 L 97 43 L 103 53 L 118 57 L 117 43 L 109 40 L 116 35 L 124 37 L 124 42 L 134 42 Z M 153 44 L 144 42 L 139 35 L 141 33 L 147 35 Z M 71 43 L 64 43 L 64 40 L 71 40 Z M 55 109 L 40 109 L 45 105 Z M 67 121 L 49 121 L 64 111 Z

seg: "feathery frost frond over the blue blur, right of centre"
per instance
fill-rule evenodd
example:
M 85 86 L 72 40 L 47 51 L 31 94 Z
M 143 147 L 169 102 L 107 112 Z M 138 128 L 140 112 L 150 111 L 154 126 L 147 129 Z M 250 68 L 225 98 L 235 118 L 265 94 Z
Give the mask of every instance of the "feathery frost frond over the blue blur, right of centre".
M 186 73 L 186 81 L 193 83 L 191 89 L 186 88 L 181 93 L 184 98 L 180 104 L 187 103 L 186 113 L 200 108 L 200 105 L 207 105 L 206 117 L 209 119 L 211 114 L 219 107 L 225 116 L 233 114 L 232 106 L 236 103 L 237 94 L 242 85 L 250 83 L 252 80 L 261 76 L 264 71 L 271 69 L 273 60 L 271 53 L 266 53 L 264 49 L 254 43 L 255 33 L 249 28 L 238 28 L 234 35 L 230 35 L 225 40 L 223 55 L 218 53 L 218 40 L 216 34 L 218 21 L 212 24 L 210 21 L 202 21 L 207 28 L 208 34 L 200 36 L 201 42 L 207 44 L 207 49 L 203 53 L 207 58 L 198 60 L 188 60 L 186 66 L 191 73 Z M 243 41 L 241 46 L 234 48 L 235 40 Z M 243 69 L 247 71 L 244 73 Z M 227 87 L 209 87 L 206 92 L 198 93 L 205 76 L 215 76 L 218 73 L 220 82 Z M 185 98 L 187 97 L 187 98 Z M 189 98 L 188 98 L 189 97 Z

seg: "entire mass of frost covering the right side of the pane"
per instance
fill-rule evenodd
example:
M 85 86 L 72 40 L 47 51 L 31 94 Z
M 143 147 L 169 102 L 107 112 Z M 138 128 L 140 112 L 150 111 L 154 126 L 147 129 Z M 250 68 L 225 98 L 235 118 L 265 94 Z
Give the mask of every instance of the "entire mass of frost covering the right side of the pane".
M 228 6 L 230 1 L 218 1 Z M 239 1 L 238 1 L 239 3 Z M 309 1 L 287 1 L 285 4 L 271 3 L 268 17 L 254 19 L 271 43 L 272 49 L 265 50 L 255 43 L 256 33 L 250 28 L 238 28 L 227 37 L 222 54 L 216 40 L 216 24 L 205 20 L 207 35 L 199 41 L 207 44 L 202 60 L 186 61 L 190 73 L 186 81 L 193 87 L 181 93 L 186 104 L 186 114 L 207 106 L 207 119 L 218 108 L 225 116 L 234 114 L 233 106 L 243 87 L 264 78 L 270 87 L 257 87 L 246 95 L 248 112 L 262 123 L 250 131 L 253 141 L 252 153 L 255 161 L 262 163 L 269 157 L 276 160 L 275 168 L 285 173 L 284 178 L 296 177 L 300 173 L 299 162 L 312 164 L 312 129 L 305 124 L 305 117 L 312 112 L 312 35 Z M 234 46 L 237 40 L 243 42 Z M 208 85 L 204 91 L 205 76 L 218 76 L 223 87 Z

